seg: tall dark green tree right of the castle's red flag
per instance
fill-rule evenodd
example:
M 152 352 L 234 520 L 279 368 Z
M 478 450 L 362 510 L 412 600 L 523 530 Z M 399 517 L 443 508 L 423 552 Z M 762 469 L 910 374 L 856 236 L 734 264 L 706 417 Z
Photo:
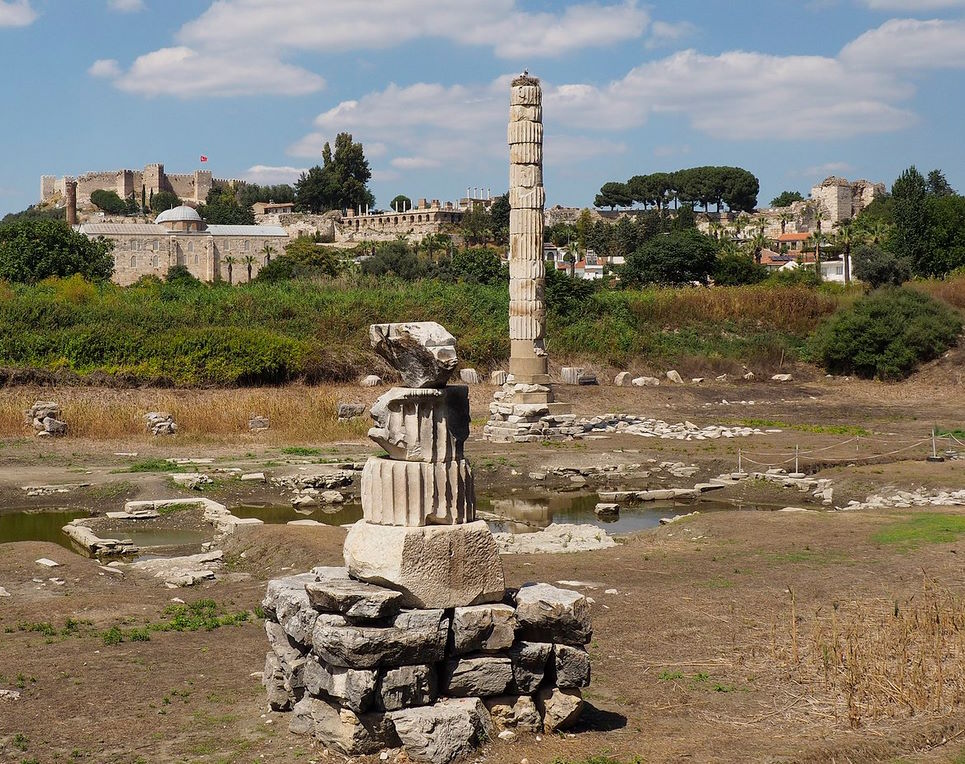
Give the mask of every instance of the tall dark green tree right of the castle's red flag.
M 334 153 L 326 141 L 321 166 L 303 172 L 295 182 L 295 202 L 313 213 L 371 207 L 375 204 L 368 189 L 371 177 L 362 144 L 353 141 L 351 133 L 339 133 Z

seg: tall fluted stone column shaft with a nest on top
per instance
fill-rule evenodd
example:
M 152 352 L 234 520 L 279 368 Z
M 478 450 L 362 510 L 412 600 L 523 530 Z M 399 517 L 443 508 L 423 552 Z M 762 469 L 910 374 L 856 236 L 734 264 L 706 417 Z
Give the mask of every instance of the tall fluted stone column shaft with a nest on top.
M 509 128 L 509 371 L 517 382 L 549 382 L 543 261 L 543 107 L 539 80 L 513 80 Z

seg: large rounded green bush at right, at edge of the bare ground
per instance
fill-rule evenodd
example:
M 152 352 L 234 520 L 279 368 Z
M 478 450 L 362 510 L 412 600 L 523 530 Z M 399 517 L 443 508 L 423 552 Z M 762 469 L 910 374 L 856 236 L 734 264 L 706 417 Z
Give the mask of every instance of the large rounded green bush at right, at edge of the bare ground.
M 952 347 L 961 316 L 921 292 L 884 289 L 832 316 L 811 340 L 832 374 L 898 380 Z

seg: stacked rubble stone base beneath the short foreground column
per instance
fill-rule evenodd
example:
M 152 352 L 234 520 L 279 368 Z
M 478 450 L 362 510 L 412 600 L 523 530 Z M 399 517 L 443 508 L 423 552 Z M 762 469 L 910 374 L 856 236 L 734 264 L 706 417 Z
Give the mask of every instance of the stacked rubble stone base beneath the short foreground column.
M 346 755 L 402 747 L 449 762 L 503 730 L 551 732 L 579 717 L 592 632 L 578 592 L 535 584 L 495 604 L 403 604 L 345 568 L 269 583 L 264 684 L 293 733 Z

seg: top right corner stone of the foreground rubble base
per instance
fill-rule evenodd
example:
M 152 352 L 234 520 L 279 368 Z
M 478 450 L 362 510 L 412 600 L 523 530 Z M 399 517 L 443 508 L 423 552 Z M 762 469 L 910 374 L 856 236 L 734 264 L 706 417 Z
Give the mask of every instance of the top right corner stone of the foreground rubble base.
M 516 593 L 516 618 L 524 639 L 583 645 L 593 636 L 590 605 L 579 592 L 526 584 Z

